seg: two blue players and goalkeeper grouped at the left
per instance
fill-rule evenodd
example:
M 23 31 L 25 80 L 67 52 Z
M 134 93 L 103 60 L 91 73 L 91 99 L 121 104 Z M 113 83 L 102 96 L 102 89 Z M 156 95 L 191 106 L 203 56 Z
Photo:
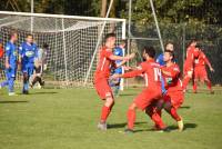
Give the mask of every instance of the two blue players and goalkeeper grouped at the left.
M 41 78 L 43 54 L 44 52 L 33 42 L 33 36 L 28 34 L 24 42 L 17 47 L 18 33 L 10 34 L 10 41 L 6 43 L 6 78 L 7 80 L 0 83 L 0 88 L 8 86 L 9 96 L 14 96 L 14 80 L 17 71 L 21 70 L 23 74 L 22 93 L 29 93 L 29 87 L 33 87 L 37 82 L 40 86 L 44 85 Z M 48 46 L 44 44 L 44 48 Z M 33 74 L 33 71 L 36 73 Z M 30 80 L 32 77 L 32 80 Z

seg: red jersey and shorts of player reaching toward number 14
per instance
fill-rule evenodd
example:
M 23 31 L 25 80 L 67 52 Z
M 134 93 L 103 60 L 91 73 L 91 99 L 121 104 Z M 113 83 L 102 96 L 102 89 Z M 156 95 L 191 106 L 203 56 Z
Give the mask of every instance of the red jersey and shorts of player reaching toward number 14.
M 114 63 L 114 61 L 110 59 L 110 56 L 112 54 L 111 50 L 102 47 L 98 67 L 94 72 L 94 88 L 102 100 L 107 97 L 112 97 L 112 90 L 108 81 L 110 77 L 110 68 Z

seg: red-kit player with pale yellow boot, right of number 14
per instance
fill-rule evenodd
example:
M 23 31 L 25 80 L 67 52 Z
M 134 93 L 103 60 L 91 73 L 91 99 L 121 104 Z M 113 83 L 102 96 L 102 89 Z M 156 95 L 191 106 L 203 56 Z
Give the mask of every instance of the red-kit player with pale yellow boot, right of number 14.
M 164 110 L 178 122 L 179 130 L 183 130 L 183 121 L 178 115 L 176 109 L 183 103 L 184 93 L 180 80 L 180 68 L 173 59 L 173 52 L 165 50 L 163 53 L 165 66 L 163 66 L 161 70 L 167 92 L 163 95 L 163 100 L 158 100 L 158 102 L 154 102 L 145 109 L 145 112 L 155 123 L 155 130 L 160 130 L 161 126 L 159 126 L 158 121 L 153 119 L 153 116 L 160 115 L 161 117 L 162 108 L 164 108 Z

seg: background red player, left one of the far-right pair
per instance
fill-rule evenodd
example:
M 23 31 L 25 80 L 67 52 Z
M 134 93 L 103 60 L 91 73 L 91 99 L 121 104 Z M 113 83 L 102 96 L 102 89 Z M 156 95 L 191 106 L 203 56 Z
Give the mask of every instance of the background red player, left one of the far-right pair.
M 186 89 L 189 81 L 193 77 L 193 62 L 194 62 L 194 52 L 196 51 L 195 46 L 198 41 L 195 39 L 191 40 L 190 46 L 186 49 L 186 59 L 183 66 L 183 90 Z

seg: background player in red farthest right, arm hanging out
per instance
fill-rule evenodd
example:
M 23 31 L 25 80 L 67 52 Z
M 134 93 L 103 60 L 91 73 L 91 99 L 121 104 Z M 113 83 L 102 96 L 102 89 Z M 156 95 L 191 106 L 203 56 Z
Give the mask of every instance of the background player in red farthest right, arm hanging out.
M 210 68 L 211 72 L 214 71 L 212 68 L 209 59 L 205 57 L 204 52 L 196 48 L 198 54 L 194 57 L 194 83 L 193 83 L 193 92 L 196 93 L 198 90 L 198 80 L 200 79 L 202 82 L 206 82 L 206 86 L 210 90 L 211 93 L 214 93 L 211 87 L 211 81 L 208 77 L 206 70 L 205 70 L 205 64 Z

